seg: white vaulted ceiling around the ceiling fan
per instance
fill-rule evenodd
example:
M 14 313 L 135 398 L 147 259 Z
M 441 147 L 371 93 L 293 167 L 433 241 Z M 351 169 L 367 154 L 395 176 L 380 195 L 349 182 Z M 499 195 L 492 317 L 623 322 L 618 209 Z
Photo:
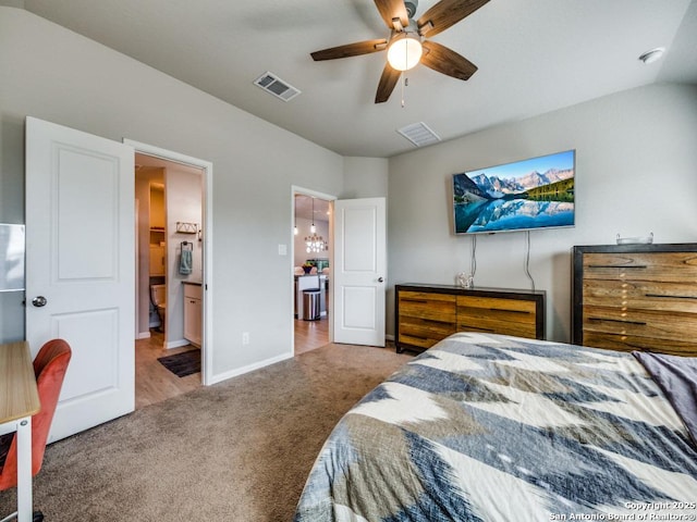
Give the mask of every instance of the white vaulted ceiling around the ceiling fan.
M 436 0 L 420 0 L 416 17 Z M 0 0 L 83 34 L 342 156 L 414 149 L 655 82 L 697 84 L 697 0 L 490 0 L 432 39 L 474 62 L 462 82 L 417 66 L 375 104 L 386 53 L 314 62 L 311 51 L 386 38 L 372 0 Z M 643 52 L 665 47 L 645 65 Z M 270 71 L 302 94 L 254 85 Z M 405 107 L 401 107 L 404 90 Z

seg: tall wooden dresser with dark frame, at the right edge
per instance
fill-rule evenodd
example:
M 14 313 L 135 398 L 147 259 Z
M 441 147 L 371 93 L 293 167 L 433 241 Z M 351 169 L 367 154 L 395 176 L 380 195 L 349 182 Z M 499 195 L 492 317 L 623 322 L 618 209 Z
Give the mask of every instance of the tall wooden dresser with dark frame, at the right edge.
M 697 244 L 574 247 L 573 343 L 697 356 Z

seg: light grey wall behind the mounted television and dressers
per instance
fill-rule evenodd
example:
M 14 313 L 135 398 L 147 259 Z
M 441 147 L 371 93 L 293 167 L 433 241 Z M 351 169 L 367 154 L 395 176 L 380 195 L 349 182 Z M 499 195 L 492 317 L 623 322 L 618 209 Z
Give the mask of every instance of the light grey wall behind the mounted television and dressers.
M 571 249 L 622 236 L 697 241 L 697 86 L 655 85 L 473 134 L 390 160 L 388 332 L 394 284 L 455 284 L 472 236 L 452 233 L 453 174 L 576 149 L 576 226 L 530 233 L 547 290 L 547 337 L 571 338 Z M 476 286 L 530 288 L 525 233 L 477 236 Z

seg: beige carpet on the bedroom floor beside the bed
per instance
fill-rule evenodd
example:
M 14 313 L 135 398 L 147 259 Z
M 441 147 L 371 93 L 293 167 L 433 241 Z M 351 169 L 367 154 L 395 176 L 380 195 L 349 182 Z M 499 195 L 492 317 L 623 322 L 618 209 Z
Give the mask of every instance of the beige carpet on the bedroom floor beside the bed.
M 59 440 L 35 508 L 47 522 L 290 522 L 337 421 L 409 359 L 328 345 Z M 0 517 L 15 498 L 0 492 Z

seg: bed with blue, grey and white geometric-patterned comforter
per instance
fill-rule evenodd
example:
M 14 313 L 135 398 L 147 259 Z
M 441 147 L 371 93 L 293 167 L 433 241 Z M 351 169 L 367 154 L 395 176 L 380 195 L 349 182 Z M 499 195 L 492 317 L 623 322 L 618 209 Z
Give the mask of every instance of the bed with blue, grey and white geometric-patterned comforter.
M 695 359 L 454 334 L 342 418 L 294 520 L 696 520 L 692 376 Z

